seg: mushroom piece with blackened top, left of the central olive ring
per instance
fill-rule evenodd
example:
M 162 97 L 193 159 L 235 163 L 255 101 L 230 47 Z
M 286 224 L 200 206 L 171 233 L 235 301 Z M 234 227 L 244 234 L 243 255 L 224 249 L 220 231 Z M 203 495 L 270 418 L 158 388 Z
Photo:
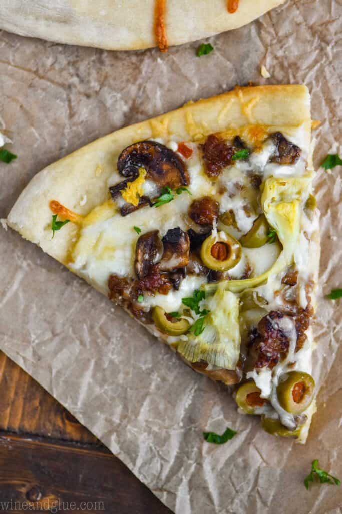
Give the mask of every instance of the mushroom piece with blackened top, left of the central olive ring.
M 179 227 L 168 230 L 163 237 L 164 254 L 160 261 L 161 271 L 174 271 L 189 262 L 190 239 Z

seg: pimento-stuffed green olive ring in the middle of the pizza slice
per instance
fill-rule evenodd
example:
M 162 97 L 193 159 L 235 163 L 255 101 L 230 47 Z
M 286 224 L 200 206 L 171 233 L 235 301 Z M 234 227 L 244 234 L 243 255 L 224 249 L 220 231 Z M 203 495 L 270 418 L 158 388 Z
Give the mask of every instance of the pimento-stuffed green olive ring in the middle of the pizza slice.
M 200 249 L 203 263 L 210 269 L 226 271 L 234 268 L 242 256 L 240 243 L 225 232 L 225 238 L 210 235 Z

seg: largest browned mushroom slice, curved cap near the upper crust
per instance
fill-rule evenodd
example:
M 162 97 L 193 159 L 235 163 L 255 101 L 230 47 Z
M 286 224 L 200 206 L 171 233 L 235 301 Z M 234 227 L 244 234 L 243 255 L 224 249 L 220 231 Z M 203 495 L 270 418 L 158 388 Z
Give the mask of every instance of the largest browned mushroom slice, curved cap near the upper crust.
M 124 177 L 137 176 L 139 168 L 147 171 L 160 187 L 171 189 L 189 185 L 189 174 L 183 160 L 165 144 L 139 141 L 127 146 L 117 159 L 117 169 Z

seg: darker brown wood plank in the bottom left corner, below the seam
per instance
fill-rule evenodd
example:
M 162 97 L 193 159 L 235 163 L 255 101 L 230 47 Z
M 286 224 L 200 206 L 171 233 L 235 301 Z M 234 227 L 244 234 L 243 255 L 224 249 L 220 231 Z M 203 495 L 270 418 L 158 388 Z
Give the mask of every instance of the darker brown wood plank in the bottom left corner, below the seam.
M 171 512 L 104 447 L 0 432 L 0 511 L 33 507 L 65 514 Z

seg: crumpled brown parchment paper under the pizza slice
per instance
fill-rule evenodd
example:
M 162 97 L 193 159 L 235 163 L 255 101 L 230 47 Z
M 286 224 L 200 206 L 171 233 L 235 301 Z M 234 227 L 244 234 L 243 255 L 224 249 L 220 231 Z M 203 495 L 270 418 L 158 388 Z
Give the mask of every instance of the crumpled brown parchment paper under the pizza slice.
M 236 84 L 306 83 L 316 165 L 341 136 L 341 20 L 335 0 L 290 0 L 260 20 L 210 41 L 108 52 L 0 32 L 0 121 L 18 159 L 0 164 L 0 216 L 48 163 L 123 125 Z M 265 64 L 271 79 L 260 76 Z M 338 351 L 342 302 L 341 168 L 317 173 L 323 254 L 315 334 L 324 385 L 306 446 L 260 429 L 236 412 L 222 386 L 199 376 L 120 308 L 18 234 L 0 230 L 0 347 L 61 401 L 157 497 L 178 514 L 341 512 L 342 488 L 303 480 L 313 458 L 342 478 Z M 238 431 L 205 443 L 203 429 Z

